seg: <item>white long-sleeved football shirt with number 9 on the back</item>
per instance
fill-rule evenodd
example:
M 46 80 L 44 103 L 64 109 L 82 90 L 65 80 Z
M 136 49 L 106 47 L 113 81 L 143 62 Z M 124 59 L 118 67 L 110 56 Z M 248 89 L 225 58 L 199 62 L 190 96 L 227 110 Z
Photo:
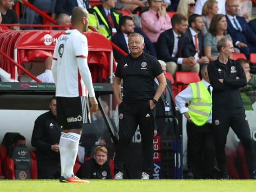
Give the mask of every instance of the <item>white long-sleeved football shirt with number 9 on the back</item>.
M 87 57 L 87 38 L 77 29 L 67 30 L 59 36 L 52 62 L 56 96 L 87 96 L 85 85 L 89 96 L 95 96 Z

